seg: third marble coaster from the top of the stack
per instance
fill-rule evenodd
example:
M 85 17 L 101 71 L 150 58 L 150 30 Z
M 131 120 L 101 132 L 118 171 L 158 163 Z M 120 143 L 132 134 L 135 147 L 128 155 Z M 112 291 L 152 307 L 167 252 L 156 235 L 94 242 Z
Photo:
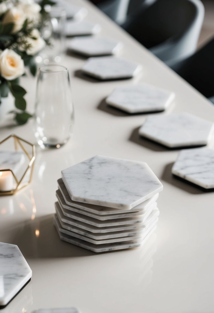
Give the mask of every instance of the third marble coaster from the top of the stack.
M 127 213 L 120 213 L 120 209 L 118 209 L 118 211 L 119 211 L 118 213 L 119 214 L 99 215 L 99 214 L 91 213 L 91 212 L 82 210 L 80 208 L 75 208 L 75 207 L 72 207 L 71 205 L 68 205 L 65 202 L 65 199 L 63 198 L 62 193 L 60 192 L 60 190 L 56 191 L 56 198 L 57 198 L 58 202 L 60 203 L 60 205 L 63 208 L 65 208 L 67 210 L 70 210 L 72 212 L 76 212 L 76 213 L 83 214 L 85 216 L 89 216 L 91 218 L 99 219 L 99 220 L 102 220 L 102 221 L 115 219 L 115 218 L 129 218 L 129 217 L 133 217 L 133 216 L 136 216 L 136 215 L 140 215 L 142 221 L 144 221 L 148 217 L 148 215 L 152 212 L 152 210 L 157 207 L 157 202 L 154 202 L 154 203 L 151 204 L 150 207 L 148 207 L 146 212 L 142 212 L 142 211 L 132 212 L 131 210 L 128 210 Z

